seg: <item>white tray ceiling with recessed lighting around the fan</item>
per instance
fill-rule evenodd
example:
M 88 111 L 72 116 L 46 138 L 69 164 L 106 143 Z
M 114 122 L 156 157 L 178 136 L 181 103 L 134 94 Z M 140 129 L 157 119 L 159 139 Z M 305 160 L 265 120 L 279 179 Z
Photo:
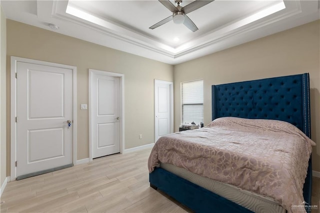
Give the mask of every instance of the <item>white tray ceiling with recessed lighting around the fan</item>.
M 183 0 L 181 6 L 190 2 Z M 1 0 L 9 19 L 169 64 L 319 19 L 318 4 L 214 0 L 187 14 L 199 28 L 192 32 L 173 21 L 149 29 L 172 14 L 157 0 Z

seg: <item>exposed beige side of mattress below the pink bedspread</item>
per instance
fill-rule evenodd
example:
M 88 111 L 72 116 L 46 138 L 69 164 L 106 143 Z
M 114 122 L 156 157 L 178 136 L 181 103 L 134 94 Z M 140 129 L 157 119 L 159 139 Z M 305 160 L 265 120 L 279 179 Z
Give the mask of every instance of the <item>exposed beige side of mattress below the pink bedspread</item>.
M 286 210 L 274 199 L 263 196 L 254 192 L 243 190 L 236 186 L 222 183 L 208 177 L 203 177 L 198 174 L 192 173 L 184 168 L 177 167 L 168 163 L 160 163 L 160 167 L 180 176 L 194 184 L 197 184 L 211 192 L 214 192 L 222 197 L 231 200 L 245 208 L 254 212 L 271 213 L 279 212 L 285 213 Z

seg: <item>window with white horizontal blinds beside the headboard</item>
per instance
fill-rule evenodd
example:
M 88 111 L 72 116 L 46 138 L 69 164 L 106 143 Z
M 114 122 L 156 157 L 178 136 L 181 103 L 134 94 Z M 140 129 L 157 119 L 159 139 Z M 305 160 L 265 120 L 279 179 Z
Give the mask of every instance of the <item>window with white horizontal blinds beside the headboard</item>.
M 181 123 L 203 122 L 203 80 L 181 83 Z

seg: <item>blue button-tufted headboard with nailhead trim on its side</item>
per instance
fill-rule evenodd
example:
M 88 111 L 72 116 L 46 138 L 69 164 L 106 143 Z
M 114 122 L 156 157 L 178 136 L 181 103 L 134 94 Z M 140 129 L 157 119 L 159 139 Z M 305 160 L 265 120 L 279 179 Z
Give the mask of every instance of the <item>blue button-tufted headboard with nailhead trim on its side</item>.
M 233 116 L 275 119 L 310 133 L 309 74 L 212 85 L 212 120 Z

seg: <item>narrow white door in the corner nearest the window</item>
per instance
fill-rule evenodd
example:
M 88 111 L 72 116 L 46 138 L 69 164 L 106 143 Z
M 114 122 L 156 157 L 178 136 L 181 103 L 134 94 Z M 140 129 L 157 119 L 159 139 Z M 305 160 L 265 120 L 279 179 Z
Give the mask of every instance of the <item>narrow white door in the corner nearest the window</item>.
M 173 132 L 172 82 L 154 80 L 154 134 L 155 141 Z

